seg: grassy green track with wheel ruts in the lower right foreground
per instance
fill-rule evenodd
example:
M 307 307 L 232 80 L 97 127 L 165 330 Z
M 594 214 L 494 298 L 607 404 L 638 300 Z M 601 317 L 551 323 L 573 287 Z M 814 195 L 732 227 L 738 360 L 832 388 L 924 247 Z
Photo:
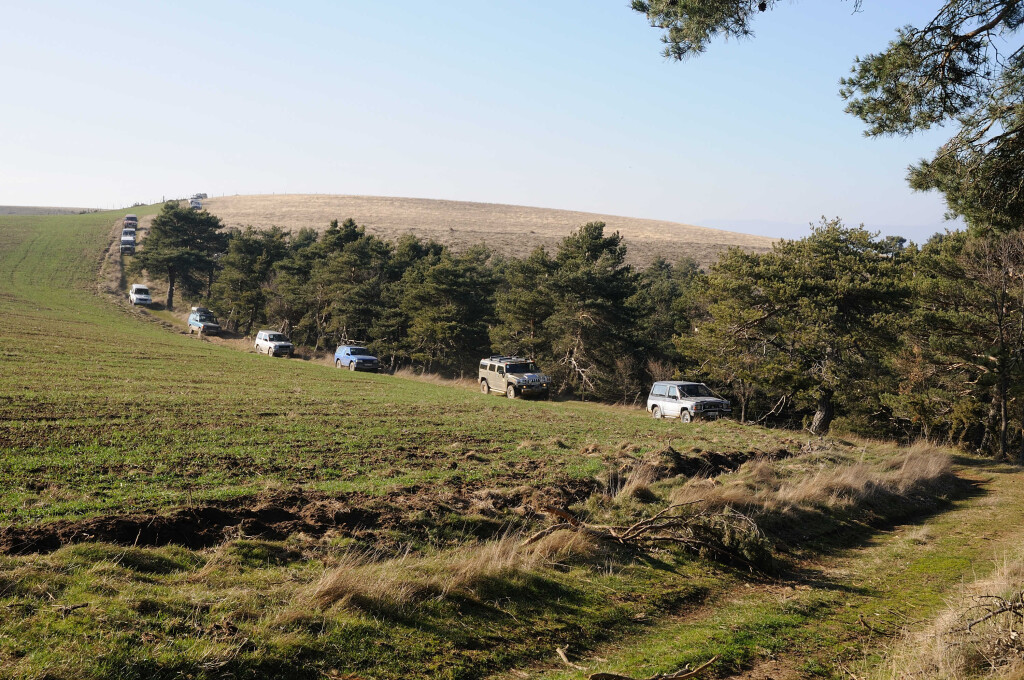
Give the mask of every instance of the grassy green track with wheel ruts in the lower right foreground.
M 578 680 L 603 671 L 643 678 L 714 655 L 721 661 L 707 677 L 862 677 L 962 583 L 985 576 L 1020 548 L 1024 471 L 964 458 L 959 473 L 977 493 L 946 512 L 802 561 L 792 578 L 733 584 L 709 606 L 578 660 L 586 671 L 567 670 L 554 658 L 548 669 L 501 677 Z

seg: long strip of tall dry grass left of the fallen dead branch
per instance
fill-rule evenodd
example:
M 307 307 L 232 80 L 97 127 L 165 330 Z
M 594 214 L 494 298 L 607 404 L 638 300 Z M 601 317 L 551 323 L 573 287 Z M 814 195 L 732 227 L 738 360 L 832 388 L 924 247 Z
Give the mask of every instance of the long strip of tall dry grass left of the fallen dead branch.
M 523 538 L 510 533 L 430 556 L 345 553 L 305 593 L 305 599 L 321 607 L 400 608 L 452 593 L 474 594 L 494 580 L 538 573 L 568 557 L 591 556 L 598 548 L 593 539 L 575 532 L 556 532 L 528 546 Z

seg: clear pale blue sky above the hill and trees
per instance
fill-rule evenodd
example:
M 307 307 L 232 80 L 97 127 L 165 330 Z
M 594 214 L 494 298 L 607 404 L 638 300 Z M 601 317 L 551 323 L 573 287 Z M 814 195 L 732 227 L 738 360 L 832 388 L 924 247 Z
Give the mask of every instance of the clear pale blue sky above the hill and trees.
M 946 226 L 838 81 L 934 1 L 783 0 L 683 63 L 628 0 L 25 2 L 0 22 L 0 205 L 205 192 L 510 203 L 799 237 Z

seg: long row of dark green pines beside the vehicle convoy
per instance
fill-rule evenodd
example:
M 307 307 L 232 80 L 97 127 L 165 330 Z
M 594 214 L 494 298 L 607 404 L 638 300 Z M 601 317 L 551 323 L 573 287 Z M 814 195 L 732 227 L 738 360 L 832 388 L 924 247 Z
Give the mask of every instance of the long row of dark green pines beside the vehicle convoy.
M 475 375 L 489 353 L 524 355 L 558 393 L 628 405 L 652 380 L 706 381 L 745 422 L 1024 460 L 1021 231 L 919 247 L 822 219 L 804 239 L 729 250 L 703 271 L 691 260 L 631 266 L 601 222 L 522 257 L 411 235 L 391 243 L 350 219 L 323 233 L 219 226 L 168 204 L 136 266 L 243 334 L 269 326 L 328 351 L 357 342 L 391 368 L 450 375 Z

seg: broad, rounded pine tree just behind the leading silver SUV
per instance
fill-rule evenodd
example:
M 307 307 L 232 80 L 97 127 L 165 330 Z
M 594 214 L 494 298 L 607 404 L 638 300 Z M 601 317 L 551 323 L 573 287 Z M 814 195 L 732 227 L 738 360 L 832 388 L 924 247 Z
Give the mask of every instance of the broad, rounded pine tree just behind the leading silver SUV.
M 864 398 L 897 344 L 908 290 L 902 244 L 824 220 L 771 252 L 730 250 L 709 274 L 709 318 L 685 343 L 720 379 L 755 383 L 813 412 Z

